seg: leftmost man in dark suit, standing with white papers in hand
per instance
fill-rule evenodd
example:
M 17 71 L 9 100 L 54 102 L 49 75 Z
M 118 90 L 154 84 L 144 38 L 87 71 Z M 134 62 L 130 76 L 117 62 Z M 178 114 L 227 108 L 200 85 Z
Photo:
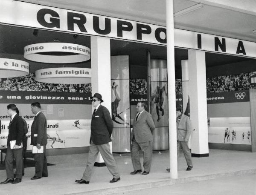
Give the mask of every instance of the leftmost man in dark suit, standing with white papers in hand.
M 22 179 L 22 166 L 23 166 L 23 155 L 22 147 L 20 147 L 24 135 L 23 121 L 17 114 L 17 107 L 15 104 L 9 104 L 7 106 L 7 112 L 10 116 L 9 134 L 7 138 L 7 151 L 6 151 L 6 181 L 0 184 L 17 184 Z M 11 148 L 10 141 L 15 141 L 14 148 Z M 14 179 L 13 174 L 13 159 L 15 158 L 16 163 L 16 178 Z

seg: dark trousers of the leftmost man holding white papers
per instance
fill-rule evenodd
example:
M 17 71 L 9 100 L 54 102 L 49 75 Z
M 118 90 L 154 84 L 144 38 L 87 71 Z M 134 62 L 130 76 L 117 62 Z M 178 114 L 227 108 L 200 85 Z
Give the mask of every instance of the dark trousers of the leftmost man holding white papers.
M 22 148 L 20 149 L 11 149 L 10 146 L 7 146 L 5 165 L 6 165 L 6 175 L 7 178 L 14 178 L 13 175 L 13 159 L 15 158 L 16 163 L 16 178 L 22 178 L 22 166 L 23 166 L 23 156 Z

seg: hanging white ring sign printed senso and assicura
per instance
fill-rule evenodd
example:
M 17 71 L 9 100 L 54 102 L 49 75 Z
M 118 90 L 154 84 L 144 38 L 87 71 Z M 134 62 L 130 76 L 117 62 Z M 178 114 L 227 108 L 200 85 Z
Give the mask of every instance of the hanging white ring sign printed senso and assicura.
M 37 43 L 24 47 L 24 58 L 42 63 L 78 63 L 90 60 L 90 48 L 73 43 Z

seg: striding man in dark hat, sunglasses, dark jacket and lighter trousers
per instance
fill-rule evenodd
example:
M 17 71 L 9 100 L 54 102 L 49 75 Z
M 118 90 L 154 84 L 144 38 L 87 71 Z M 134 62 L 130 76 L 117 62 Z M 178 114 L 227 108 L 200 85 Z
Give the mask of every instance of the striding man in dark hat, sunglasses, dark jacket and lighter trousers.
M 113 175 L 110 183 L 114 183 L 120 180 L 120 175 L 109 146 L 113 131 L 113 122 L 108 109 L 100 104 L 103 102 L 102 96 L 99 93 L 95 93 L 91 97 L 91 100 L 95 109 L 91 121 L 90 150 L 83 177 L 80 180 L 76 180 L 76 183 L 89 184 L 93 166 L 99 152 L 108 170 Z

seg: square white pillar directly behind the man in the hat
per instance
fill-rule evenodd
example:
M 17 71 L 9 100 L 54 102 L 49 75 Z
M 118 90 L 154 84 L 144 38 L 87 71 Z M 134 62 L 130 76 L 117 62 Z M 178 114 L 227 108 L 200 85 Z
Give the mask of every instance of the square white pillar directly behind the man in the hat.
M 92 69 L 92 95 L 100 93 L 104 102 L 102 103 L 111 114 L 111 60 L 110 60 L 110 38 L 91 37 L 91 69 Z M 92 108 L 93 113 L 94 108 Z M 111 152 L 112 152 L 112 142 Z M 96 163 L 104 163 L 99 154 Z M 99 164 L 99 165 L 100 165 Z

